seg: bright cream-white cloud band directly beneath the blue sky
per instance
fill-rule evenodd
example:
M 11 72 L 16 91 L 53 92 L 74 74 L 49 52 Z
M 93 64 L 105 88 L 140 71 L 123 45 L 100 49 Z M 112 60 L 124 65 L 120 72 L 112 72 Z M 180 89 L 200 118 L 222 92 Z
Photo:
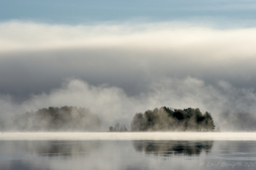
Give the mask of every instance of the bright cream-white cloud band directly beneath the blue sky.
M 128 48 L 223 60 L 253 57 L 255 28 L 229 30 L 188 23 L 65 26 L 9 21 L 0 24 L 0 53 L 60 48 Z

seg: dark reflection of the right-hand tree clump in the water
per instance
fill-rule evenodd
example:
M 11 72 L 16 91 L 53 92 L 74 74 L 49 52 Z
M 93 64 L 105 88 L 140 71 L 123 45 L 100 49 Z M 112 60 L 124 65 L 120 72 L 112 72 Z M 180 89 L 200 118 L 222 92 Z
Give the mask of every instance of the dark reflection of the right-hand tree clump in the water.
M 199 156 L 212 150 L 213 141 L 133 141 L 137 152 L 154 156 Z

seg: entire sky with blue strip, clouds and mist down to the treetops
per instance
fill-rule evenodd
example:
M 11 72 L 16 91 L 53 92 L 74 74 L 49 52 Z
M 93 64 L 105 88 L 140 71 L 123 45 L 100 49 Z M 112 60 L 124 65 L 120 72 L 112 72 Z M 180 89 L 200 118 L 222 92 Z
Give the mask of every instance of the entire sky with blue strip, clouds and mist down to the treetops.
M 130 127 L 165 105 L 209 111 L 224 130 L 236 113 L 252 123 L 255 15 L 251 0 L 3 0 L 0 114 L 75 105 Z

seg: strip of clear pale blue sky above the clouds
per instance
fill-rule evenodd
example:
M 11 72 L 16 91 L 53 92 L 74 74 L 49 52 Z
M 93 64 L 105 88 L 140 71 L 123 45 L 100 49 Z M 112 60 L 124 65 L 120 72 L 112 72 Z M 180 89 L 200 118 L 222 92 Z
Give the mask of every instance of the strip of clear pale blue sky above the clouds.
M 50 24 L 98 24 L 127 20 L 229 20 L 253 21 L 253 0 L 3 0 L 0 20 L 32 20 Z M 247 23 L 252 26 L 252 24 Z

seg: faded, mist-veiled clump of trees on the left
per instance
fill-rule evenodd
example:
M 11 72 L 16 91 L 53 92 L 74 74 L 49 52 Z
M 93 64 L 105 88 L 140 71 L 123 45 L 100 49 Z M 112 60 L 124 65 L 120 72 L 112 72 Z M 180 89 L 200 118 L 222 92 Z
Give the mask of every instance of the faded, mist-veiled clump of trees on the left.
M 99 117 L 88 109 L 63 106 L 26 112 L 1 127 L 5 131 L 95 131 L 100 126 Z

